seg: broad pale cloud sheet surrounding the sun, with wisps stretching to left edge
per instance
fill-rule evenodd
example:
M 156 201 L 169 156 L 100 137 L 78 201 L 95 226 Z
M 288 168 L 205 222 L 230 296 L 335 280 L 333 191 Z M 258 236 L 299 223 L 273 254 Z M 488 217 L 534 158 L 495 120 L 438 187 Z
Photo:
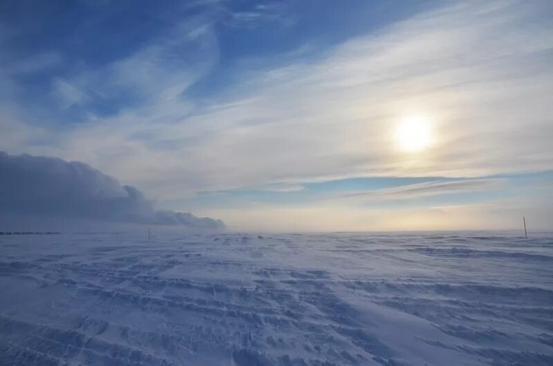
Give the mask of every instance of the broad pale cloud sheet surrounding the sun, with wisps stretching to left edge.
M 268 58 L 208 104 L 183 93 L 218 62 L 216 32 L 196 28 L 211 24 L 200 19 L 63 79 L 109 100 L 131 90 L 138 105 L 49 131 L 41 141 L 50 146 L 29 137 L 12 151 L 87 162 L 164 201 L 347 177 L 551 169 L 553 23 L 544 8 L 443 3 L 284 66 Z M 194 49 L 196 61 L 181 61 Z M 429 115 L 435 127 L 421 154 L 394 146 L 395 124 L 411 114 Z M 10 146 L 9 135 L 0 144 Z

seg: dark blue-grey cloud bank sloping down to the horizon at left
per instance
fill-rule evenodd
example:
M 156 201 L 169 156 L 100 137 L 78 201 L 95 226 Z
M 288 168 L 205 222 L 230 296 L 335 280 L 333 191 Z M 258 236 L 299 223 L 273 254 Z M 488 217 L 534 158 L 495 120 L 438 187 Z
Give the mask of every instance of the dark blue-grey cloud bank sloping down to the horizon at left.
M 133 186 L 82 162 L 0 151 L 0 213 L 4 222 L 32 217 L 109 223 L 159 224 L 187 229 L 224 229 L 221 220 L 158 211 Z M 1 222 L 1 221 L 0 221 Z M 21 225 L 19 225 L 21 226 Z M 6 228 L 10 229 L 10 228 Z M 30 228 L 32 229 L 32 228 Z

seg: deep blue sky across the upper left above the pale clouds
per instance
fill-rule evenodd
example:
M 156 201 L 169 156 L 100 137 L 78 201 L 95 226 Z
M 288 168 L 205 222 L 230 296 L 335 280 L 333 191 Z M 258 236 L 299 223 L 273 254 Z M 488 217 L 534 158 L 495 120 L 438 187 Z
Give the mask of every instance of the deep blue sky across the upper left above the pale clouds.
M 91 115 L 117 115 L 150 95 L 106 79 L 77 93 L 68 79 L 109 68 L 159 44 L 167 47 L 156 60 L 159 67 L 182 71 L 209 64 L 179 95 L 196 104 L 209 103 L 248 71 L 265 68 L 269 57 L 273 67 L 317 57 L 341 41 L 422 8 L 424 2 L 415 6 L 388 1 L 371 6 L 365 1 L 347 6 L 335 1 L 188 1 L 162 6 L 151 1 L 12 1 L 3 4 L 1 15 L 7 34 L 3 49 L 8 51 L 3 59 L 19 86 L 11 97 L 31 114 L 26 116 L 29 123 L 76 124 Z M 301 48 L 308 49 L 297 55 Z M 77 95 L 59 102 L 65 94 Z M 84 100 L 75 103 L 79 96 Z

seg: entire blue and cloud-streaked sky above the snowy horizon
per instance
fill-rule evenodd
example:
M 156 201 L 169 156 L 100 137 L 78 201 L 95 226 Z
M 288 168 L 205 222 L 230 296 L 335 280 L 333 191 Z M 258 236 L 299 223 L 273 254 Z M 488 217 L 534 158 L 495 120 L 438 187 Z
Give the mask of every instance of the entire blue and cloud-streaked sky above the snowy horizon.
M 0 157 L 38 182 L 86 166 L 149 222 L 553 229 L 552 19 L 539 0 L 2 1 Z M 24 207 L 6 172 L 0 209 Z

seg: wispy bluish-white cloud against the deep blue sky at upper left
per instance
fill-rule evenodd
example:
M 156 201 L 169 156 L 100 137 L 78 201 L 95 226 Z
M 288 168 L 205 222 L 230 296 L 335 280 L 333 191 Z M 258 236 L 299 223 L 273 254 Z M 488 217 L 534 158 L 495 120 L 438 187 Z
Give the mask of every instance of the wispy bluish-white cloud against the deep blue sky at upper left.
M 178 106 L 184 117 L 187 101 L 182 93 L 207 73 L 217 57 L 209 20 L 188 19 L 128 57 L 56 79 L 54 97 L 64 107 L 79 106 L 101 117 L 104 105 L 120 115 L 140 111 L 150 119 L 167 118 L 165 114 Z

